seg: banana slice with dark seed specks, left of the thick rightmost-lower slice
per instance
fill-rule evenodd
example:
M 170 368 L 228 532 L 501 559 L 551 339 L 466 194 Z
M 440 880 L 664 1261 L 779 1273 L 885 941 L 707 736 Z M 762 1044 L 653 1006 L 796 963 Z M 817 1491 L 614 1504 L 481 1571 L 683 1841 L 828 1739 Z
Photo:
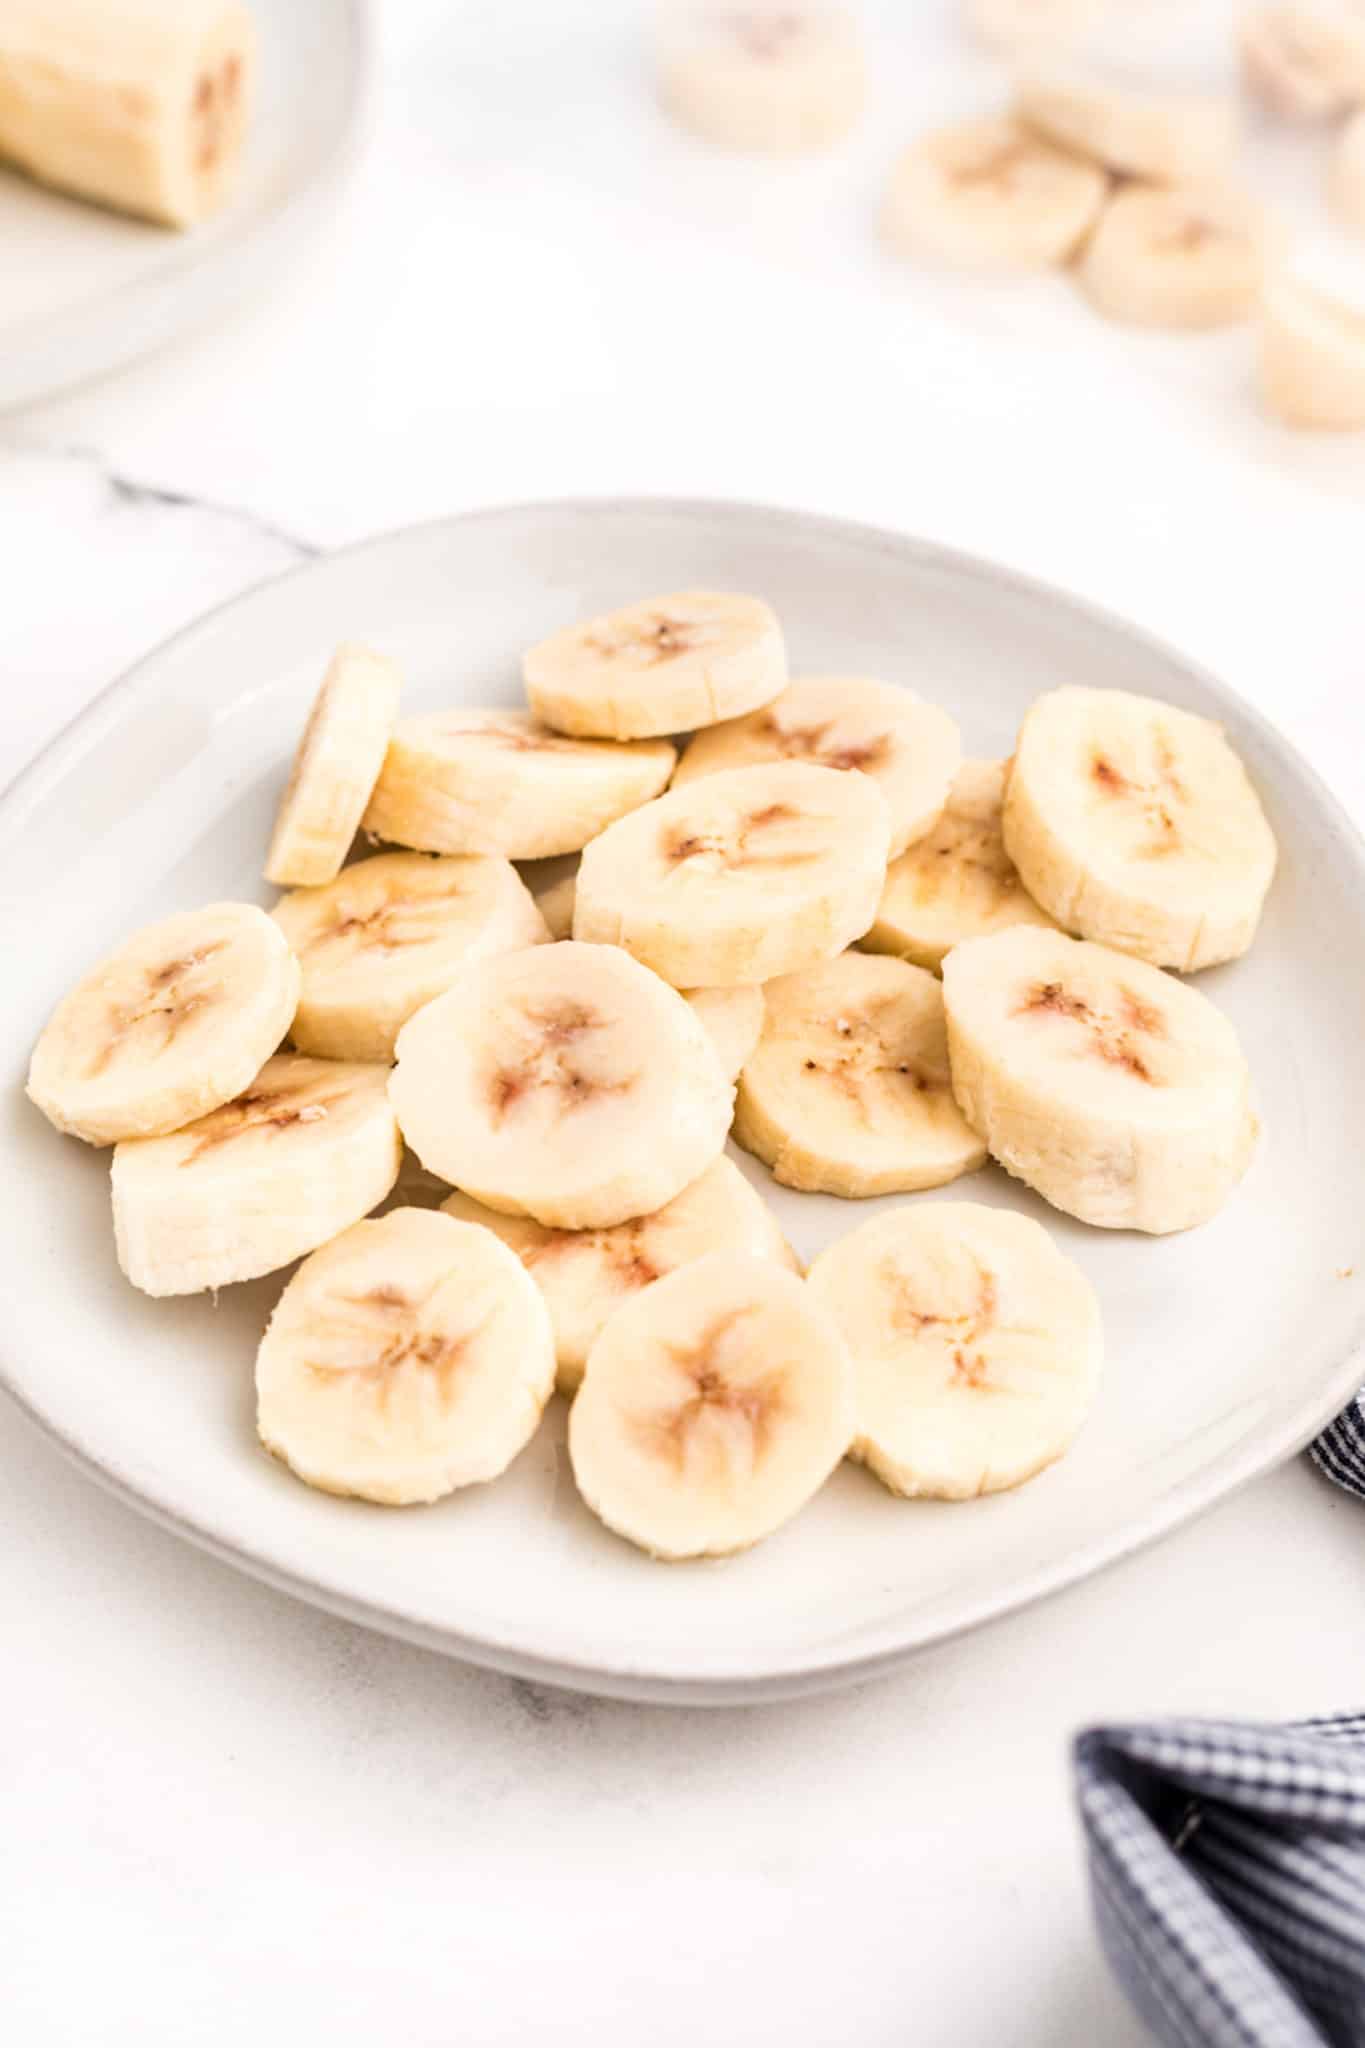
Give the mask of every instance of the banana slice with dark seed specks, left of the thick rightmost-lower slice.
M 845 952 L 765 989 L 735 1139 L 788 1188 L 905 1194 L 986 1163 L 948 1073 L 943 991 L 923 967 Z

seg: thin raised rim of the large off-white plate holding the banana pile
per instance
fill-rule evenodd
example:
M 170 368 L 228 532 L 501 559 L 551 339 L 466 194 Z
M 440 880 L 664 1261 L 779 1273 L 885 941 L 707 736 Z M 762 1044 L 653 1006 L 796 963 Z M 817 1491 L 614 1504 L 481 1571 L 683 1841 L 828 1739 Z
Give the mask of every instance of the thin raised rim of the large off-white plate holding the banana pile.
M 364 6 L 364 0 L 346 0 L 346 4 Z M 147 670 L 156 676 L 156 668 L 164 657 L 172 655 L 180 643 L 192 641 L 194 635 L 215 627 L 225 614 L 241 604 L 250 604 L 266 590 L 315 575 L 321 567 L 329 567 L 356 553 L 375 553 L 385 547 L 405 547 L 424 535 L 448 532 L 469 524 L 487 526 L 499 520 L 524 520 L 546 514 L 559 518 L 622 518 L 657 516 L 661 512 L 684 520 L 706 520 L 712 524 L 726 520 L 739 524 L 767 522 L 778 528 L 786 528 L 788 532 L 810 535 L 825 543 L 878 549 L 882 553 L 915 561 L 919 567 L 931 567 L 966 582 L 974 580 L 978 584 L 986 584 L 995 592 L 1019 596 L 1027 602 L 1052 608 L 1054 612 L 1068 612 L 1074 621 L 1089 625 L 1091 629 L 1117 635 L 1142 653 L 1195 680 L 1218 702 L 1220 711 L 1226 711 L 1236 723 L 1254 731 L 1257 737 L 1275 754 L 1287 758 L 1306 788 L 1312 793 L 1320 817 L 1332 834 L 1345 842 L 1357 868 L 1361 870 L 1361 877 L 1365 877 L 1365 836 L 1340 799 L 1328 788 L 1318 770 L 1300 754 L 1293 741 L 1287 739 L 1279 727 L 1265 717 L 1265 713 L 1238 696 L 1230 684 L 1222 682 L 1199 662 L 1181 653 L 1146 627 L 1134 625 L 1091 598 L 1068 592 L 1046 582 L 1044 578 L 1029 575 L 1005 563 L 990 561 L 990 557 L 976 555 L 968 549 L 948 547 L 937 541 L 902 535 L 886 526 L 874 526 L 833 514 L 735 498 L 677 498 L 671 494 L 571 496 L 475 506 L 465 512 L 385 528 L 383 532 L 366 535 L 346 543 L 344 547 L 329 549 L 321 557 L 291 563 L 272 575 L 258 578 L 233 596 L 221 600 L 205 612 L 199 612 L 176 633 L 149 647 L 137 657 L 137 662 L 98 690 L 57 733 L 53 733 L 39 754 L 35 754 L 31 762 L 27 762 L 6 784 L 0 786 L 0 831 L 16 825 L 23 829 L 25 813 L 33 803 L 41 801 L 53 780 L 63 774 L 68 760 L 74 760 L 80 752 L 84 752 L 90 739 L 98 737 L 98 731 L 121 711 L 125 700 L 135 700 L 145 688 Z M 219 1559 L 219 1563 L 231 1565 L 248 1577 L 254 1577 L 276 1591 L 289 1593 L 295 1599 L 303 1599 L 309 1606 L 321 1608 L 381 1634 L 397 1636 L 424 1649 L 456 1657 L 465 1663 L 501 1671 L 510 1677 L 532 1683 L 561 1686 L 573 1692 L 636 1700 L 645 1704 L 741 1706 L 800 1698 L 806 1694 L 864 1683 L 870 1677 L 878 1677 L 902 1663 L 909 1663 L 921 1651 L 939 1642 L 950 1642 L 958 1636 L 974 1632 L 976 1628 L 984 1628 L 993 1620 L 1017 1614 L 1040 1599 L 1095 1577 L 1119 1559 L 1138 1554 L 1152 1542 L 1195 1520 L 1199 1513 L 1205 1513 L 1220 1501 L 1230 1499 L 1252 1479 L 1285 1464 L 1291 1456 L 1302 1452 L 1318 1430 L 1330 1421 L 1359 1389 L 1365 1378 L 1363 1354 L 1365 1303 L 1357 1311 L 1351 1341 L 1338 1350 L 1334 1368 L 1316 1395 L 1302 1397 L 1275 1432 L 1252 1434 L 1250 1440 L 1230 1446 L 1228 1450 L 1216 1454 L 1199 1470 L 1177 1481 L 1156 1507 L 1146 1509 L 1121 1530 L 1083 1544 L 1052 1565 L 1040 1567 L 1003 1595 L 976 1595 L 976 1599 L 970 1602 L 948 1626 L 931 1626 L 927 1630 L 911 1628 L 902 1640 L 864 1653 L 849 1655 L 835 1649 L 829 1655 L 817 1657 L 810 1653 L 800 1653 L 798 1657 L 767 1657 L 761 1669 L 745 1669 L 743 1655 L 737 1657 L 733 1653 L 712 1657 L 690 1667 L 679 1667 L 675 1661 L 671 1663 L 667 1659 L 645 1659 L 641 1663 L 616 1659 L 612 1663 L 600 1661 L 581 1665 L 561 1655 L 538 1653 L 518 1640 L 499 1638 L 495 1632 L 467 1634 L 465 1630 L 434 1626 L 403 1612 L 401 1606 L 368 1599 L 348 1591 L 344 1585 L 329 1583 L 325 1577 L 305 1577 L 295 1569 L 295 1565 L 274 1556 L 268 1546 L 254 1548 L 244 1544 L 237 1534 L 223 1534 L 209 1524 L 196 1522 L 182 1513 L 172 1501 L 164 1497 L 158 1499 L 153 1493 L 127 1481 L 100 1458 L 96 1448 L 82 1440 L 78 1430 L 55 1419 L 37 1405 L 31 1393 L 16 1380 L 14 1368 L 10 1366 L 2 1346 L 0 1391 L 4 1391 L 6 1399 L 12 1401 L 14 1407 L 65 1458 L 96 1479 L 106 1491 L 125 1501 L 129 1507 L 147 1516 L 151 1522 L 196 1548 L 207 1550 L 211 1556 Z

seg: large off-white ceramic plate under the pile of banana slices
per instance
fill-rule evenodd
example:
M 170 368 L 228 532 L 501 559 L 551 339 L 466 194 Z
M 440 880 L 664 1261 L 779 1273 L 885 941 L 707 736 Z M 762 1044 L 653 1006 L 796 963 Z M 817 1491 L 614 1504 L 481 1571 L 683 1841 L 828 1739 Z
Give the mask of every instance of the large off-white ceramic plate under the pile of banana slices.
M 1040 1217 L 1105 1311 L 1097 1413 L 1070 1458 L 1019 1493 L 905 1503 L 845 1466 L 747 1556 L 659 1567 L 577 1501 L 559 1401 L 512 1473 L 438 1507 L 309 1493 L 252 1432 L 252 1358 L 280 1280 L 217 1305 L 135 1294 L 115 1266 L 106 1157 L 57 1139 L 20 1096 L 31 1040 L 133 926 L 215 897 L 270 899 L 266 831 L 334 641 L 397 655 L 409 709 L 514 702 L 524 645 L 686 584 L 763 592 L 798 670 L 913 684 L 952 707 L 974 754 L 1003 754 L 1029 698 L 1060 682 L 1226 721 L 1283 856 L 1252 956 L 1201 977 L 1257 1075 L 1259 1159 L 1222 1217 L 1169 1239 L 1087 1231 L 997 1169 L 952 1190 Z M 65 1450 L 180 1534 L 454 1655 L 634 1698 L 774 1698 L 862 1677 L 1187 1520 L 1295 1452 L 1353 1393 L 1363 940 L 1365 850 L 1285 741 L 1177 655 L 1040 586 L 743 506 L 530 506 L 372 541 L 190 627 L 0 799 L 0 1376 Z M 786 1194 L 743 1163 L 806 1255 L 876 1206 Z

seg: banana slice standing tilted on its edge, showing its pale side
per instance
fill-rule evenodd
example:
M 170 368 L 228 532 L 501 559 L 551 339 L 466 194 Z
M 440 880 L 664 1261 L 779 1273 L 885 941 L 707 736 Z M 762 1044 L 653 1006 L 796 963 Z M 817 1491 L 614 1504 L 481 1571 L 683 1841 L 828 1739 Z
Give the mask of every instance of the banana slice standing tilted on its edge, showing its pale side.
M 313 700 L 274 821 L 266 881 L 313 889 L 350 852 L 399 713 L 399 672 L 368 647 L 340 647 Z

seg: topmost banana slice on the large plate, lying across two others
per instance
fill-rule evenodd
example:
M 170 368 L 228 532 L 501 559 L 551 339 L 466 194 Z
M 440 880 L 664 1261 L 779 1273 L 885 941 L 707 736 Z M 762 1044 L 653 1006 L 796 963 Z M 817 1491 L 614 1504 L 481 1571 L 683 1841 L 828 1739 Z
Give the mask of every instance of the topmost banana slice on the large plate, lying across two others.
M 786 688 L 786 645 L 761 598 L 679 590 L 553 633 L 522 676 L 530 709 L 555 731 L 649 739 L 772 702 Z

